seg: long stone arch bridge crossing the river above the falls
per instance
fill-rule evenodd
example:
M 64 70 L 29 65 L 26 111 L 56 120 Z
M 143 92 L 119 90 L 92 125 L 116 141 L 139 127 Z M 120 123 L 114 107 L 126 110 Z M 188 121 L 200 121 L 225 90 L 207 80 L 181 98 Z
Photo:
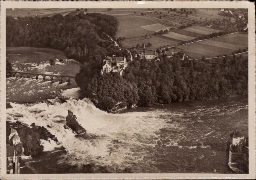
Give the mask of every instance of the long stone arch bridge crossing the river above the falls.
M 18 72 L 18 71 L 6 71 L 6 76 L 12 76 L 16 77 L 16 75 L 20 75 L 20 78 L 35 78 L 38 79 L 39 76 L 42 77 L 42 79 L 46 80 L 47 77 L 50 78 L 51 81 L 53 81 L 53 78 L 57 79 L 60 82 L 70 82 L 70 79 L 75 79 L 74 76 L 67 76 L 67 75 L 53 75 L 53 74 L 41 74 L 41 73 L 28 73 L 28 72 Z

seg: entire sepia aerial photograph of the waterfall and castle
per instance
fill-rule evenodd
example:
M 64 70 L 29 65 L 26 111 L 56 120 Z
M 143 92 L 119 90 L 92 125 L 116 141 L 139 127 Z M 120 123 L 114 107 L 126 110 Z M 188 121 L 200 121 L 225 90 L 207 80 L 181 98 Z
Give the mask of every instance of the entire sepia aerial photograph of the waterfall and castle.
M 249 10 L 182 4 L 1 9 L 1 174 L 255 173 Z

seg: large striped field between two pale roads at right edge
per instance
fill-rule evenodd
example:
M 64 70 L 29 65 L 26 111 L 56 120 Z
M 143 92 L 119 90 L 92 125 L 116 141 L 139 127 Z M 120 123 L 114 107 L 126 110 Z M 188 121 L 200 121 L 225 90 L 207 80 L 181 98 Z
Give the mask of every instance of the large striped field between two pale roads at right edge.
M 220 38 L 213 38 L 206 41 L 178 46 L 178 48 L 183 52 L 186 52 L 190 58 L 202 58 L 202 56 L 210 58 L 230 55 L 239 48 L 244 49 L 248 47 L 247 39 L 247 34 L 236 33 Z

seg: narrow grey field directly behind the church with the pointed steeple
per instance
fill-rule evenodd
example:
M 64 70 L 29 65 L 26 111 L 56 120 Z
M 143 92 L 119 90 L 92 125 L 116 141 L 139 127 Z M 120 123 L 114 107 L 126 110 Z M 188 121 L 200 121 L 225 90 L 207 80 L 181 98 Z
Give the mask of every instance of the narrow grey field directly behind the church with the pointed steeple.
M 169 46 L 175 46 L 177 45 L 179 42 L 175 41 L 175 40 L 170 40 L 169 38 L 163 38 L 161 36 L 154 36 L 152 35 L 152 38 L 131 38 L 131 39 L 125 39 L 124 41 L 122 41 L 122 44 L 124 47 L 126 48 L 131 48 L 132 46 L 136 46 L 137 44 L 143 44 L 145 42 L 145 44 L 148 44 L 148 42 L 150 42 L 152 44 L 152 46 L 150 47 L 146 47 L 146 49 L 150 50 L 150 49 L 157 49 L 166 45 Z

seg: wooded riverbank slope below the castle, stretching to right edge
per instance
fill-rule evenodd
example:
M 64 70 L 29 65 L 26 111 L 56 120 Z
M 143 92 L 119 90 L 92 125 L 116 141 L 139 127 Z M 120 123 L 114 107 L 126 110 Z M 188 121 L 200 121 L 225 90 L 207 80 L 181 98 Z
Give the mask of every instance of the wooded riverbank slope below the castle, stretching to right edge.
M 84 64 L 76 82 L 97 107 L 111 110 L 118 102 L 131 107 L 156 102 L 186 102 L 224 99 L 248 93 L 248 58 L 212 60 L 134 60 L 124 75 L 92 71 Z

